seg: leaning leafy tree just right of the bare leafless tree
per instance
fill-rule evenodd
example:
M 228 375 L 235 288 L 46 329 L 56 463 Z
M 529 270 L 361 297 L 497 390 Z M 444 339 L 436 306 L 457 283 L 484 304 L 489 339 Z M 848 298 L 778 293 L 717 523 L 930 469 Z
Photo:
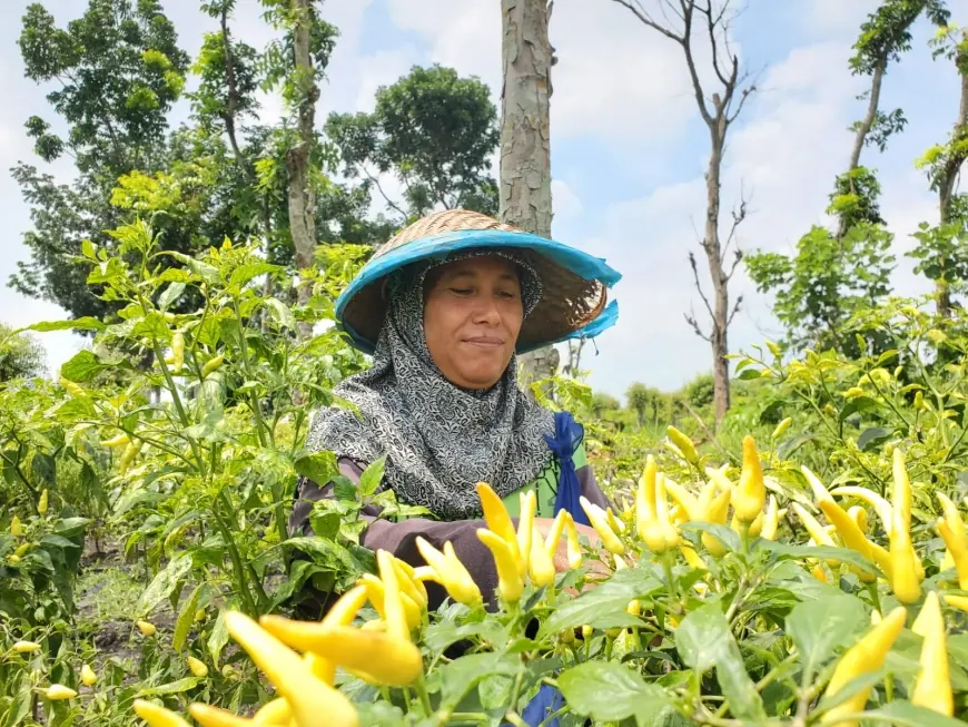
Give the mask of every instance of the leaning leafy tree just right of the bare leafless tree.
M 794 256 L 757 252 L 745 256 L 750 277 L 761 293 L 773 293 L 773 312 L 787 328 L 792 350 L 833 347 L 859 355 L 856 336 L 842 328 L 856 313 L 877 305 L 890 292 L 895 256 L 893 236 L 885 229 L 878 206 L 880 185 L 875 174 L 860 165 L 867 146 L 883 151 L 889 138 L 907 120 L 901 109 L 880 110 L 881 88 L 891 62 L 910 49 L 910 27 L 926 13 L 936 24 L 948 20 L 940 0 L 887 0 L 861 26 L 850 69 L 870 76 L 867 111 L 857 121 L 847 171 L 834 180 L 828 214 L 837 218 L 831 232 L 814 226 L 800 238 Z M 876 332 L 868 343 L 878 347 Z

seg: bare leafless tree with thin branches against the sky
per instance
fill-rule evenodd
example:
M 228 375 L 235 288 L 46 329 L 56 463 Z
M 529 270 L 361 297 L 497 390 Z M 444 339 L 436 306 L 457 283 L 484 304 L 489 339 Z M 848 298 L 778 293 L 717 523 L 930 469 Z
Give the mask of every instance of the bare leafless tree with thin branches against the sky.
M 730 407 L 729 379 L 729 325 L 742 304 L 742 296 L 730 306 L 729 282 L 742 259 L 742 253 L 735 247 L 732 264 L 728 266 L 727 256 L 730 245 L 735 242 L 739 225 L 745 219 L 745 203 L 741 202 L 732 213 L 732 224 L 725 242 L 720 235 L 720 185 L 722 175 L 723 153 L 729 129 L 739 117 L 749 97 L 755 91 L 755 85 L 748 82 L 749 76 L 740 70 L 740 59 L 730 48 L 730 0 L 724 0 L 720 8 L 714 8 L 712 0 L 661 0 L 663 18 L 669 24 L 662 24 L 646 11 L 640 0 L 613 0 L 626 8 L 643 24 L 674 41 L 682 49 L 692 91 L 699 107 L 700 116 L 709 131 L 710 156 L 705 170 L 705 225 L 700 243 L 705 253 L 709 275 L 712 281 L 712 302 L 703 292 L 699 278 L 695 256 L 689 253 L 689 264 L 700 298 L 702 298 L 710 317 L 709 332 L 704 332 L 694 314 L 687 314 L 685 320 L 698 336 L 705 340 L 712 347 L 712 372 L 715 387 L 715 419 L 720 422 Z M 675 18 L 678 22 L 671 20 Z M 704 40 L 698 40 L 695 33 Z M 708 42 L 711 52 L 713 71 L 711 95 L 700 78 L 697 68 L 698 43 Z M 729 268 L 729 269 L 727 269 Z

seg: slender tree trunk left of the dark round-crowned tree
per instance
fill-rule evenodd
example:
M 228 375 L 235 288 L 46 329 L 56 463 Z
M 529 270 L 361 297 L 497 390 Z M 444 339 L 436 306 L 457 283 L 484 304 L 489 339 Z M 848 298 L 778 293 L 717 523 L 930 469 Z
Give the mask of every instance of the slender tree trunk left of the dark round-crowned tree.
M 314 126 L 319 88 L 316 86 L 313 60 L 309 56 L 313 0 L 292 0 L 292 8 L 295 16 L 293 27 L 295 76 L 303 97 L 298 108 L 298 140 L 286 154 L 286 168 L 289 173 L 289 233 L 296 253 L 296 267 L 304 271 L 313 266 L 316 250 L 316 191 L 310 178 L 310 159 L 315 144 Z M 312 281 L 300 281 L 297 291 L 299 305 L 309 302 L 310 293 Z M 308 323 L 299 324 L 302 338 L 308 338 L 312 334 L 313 328 Z

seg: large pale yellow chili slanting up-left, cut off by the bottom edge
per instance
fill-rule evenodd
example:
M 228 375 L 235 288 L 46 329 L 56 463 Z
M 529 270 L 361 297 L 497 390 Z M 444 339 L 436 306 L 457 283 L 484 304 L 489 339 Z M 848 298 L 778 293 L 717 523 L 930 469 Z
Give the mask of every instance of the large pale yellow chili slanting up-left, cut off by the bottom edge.
M 256 666 L 276 686 L 279 696 L 284 697 L 293 709 L 296 727 L 314 727 L 319 724 L 320 715 L 325 715 L 328 727 L 357 727 L 359 717 L 356 708 L 340 691 L 313 676 L 299 656 L 259 628 L 245 613 L 227 611 L 223 617 L 229 635 L 249 654 Z M 315 625 L 319 628 L 320 625 Z M 337 627 L 333 627 L 337 628 Z M 357 633 L 355 629 L 347 629 Z M 375 635 L 371 635 L 375 636 Z M 404 644 L 414 647 L 409 641 Z M 344 655 L 345 656 L 345 655 Z M 388 660 L 389 655 L 371 656 L 374 664 Z

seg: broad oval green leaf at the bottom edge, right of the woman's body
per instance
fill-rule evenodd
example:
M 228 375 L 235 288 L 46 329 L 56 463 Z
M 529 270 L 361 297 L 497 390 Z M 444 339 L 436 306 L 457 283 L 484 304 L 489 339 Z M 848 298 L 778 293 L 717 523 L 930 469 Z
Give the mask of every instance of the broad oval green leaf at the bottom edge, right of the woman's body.
M 614 661 L 585 661 L 557 678 L 565 703 L 577 714 L 596 721 L 634 717 L 649 724 L 670 705 L 665 690 Z

